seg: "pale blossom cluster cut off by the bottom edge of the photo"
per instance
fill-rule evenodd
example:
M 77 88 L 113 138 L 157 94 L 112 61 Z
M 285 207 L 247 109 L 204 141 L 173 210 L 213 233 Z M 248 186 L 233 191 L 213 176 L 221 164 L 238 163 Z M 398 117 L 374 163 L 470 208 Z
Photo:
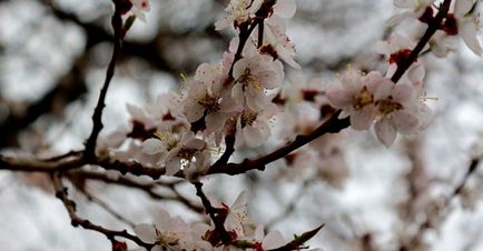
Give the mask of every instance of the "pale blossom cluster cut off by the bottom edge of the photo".
M 248 219 L 247 192 L 241 192 L 231 207 L 220 203 L 218 210 L 224 211 L 224 228 L 230 237 L 233 248 L 243 250 L 264 251 L 286 245 L 280 232 L 264 233 L 263 225 L 255 227 Z M 152 251 L 161 250 L 226 250 L 218 243 L 215 225 L 206 223 L 188 224 L 180 217 L 171 217 L 167 211 L 160 210 L 156 223 L 142 223 L 135 227 L 135 233 L 146 243 L 155 244 Z M 300 235 L 302 237 L 302 235 Z M 138 248 L 137 251 L 146 251 Z M 319 250 L 319 249 L 314 249 Z

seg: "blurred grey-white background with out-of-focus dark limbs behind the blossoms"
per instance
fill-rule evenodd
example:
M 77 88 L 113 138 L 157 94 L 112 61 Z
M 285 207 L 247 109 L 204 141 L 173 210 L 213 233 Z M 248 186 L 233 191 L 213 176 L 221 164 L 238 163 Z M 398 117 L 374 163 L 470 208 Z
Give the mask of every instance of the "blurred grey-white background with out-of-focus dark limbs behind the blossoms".
M 127 123 L 126 103 L 154 102 L 179 87 L 181 74 L 220 60 L 234 36 L 213 24 L 226 0 L 150 3 L 147 21 L 136 21 L 126 38 L 102 134 Z M 287 34 L 303 70 L 286 67 L 287 83 L 327 86 L 348 64 L 384 73 L 374 44 L 391 34 L 384 24 L 397 11 L 391 0 L 297 0 L 297 6 Z M 0 151 L 82 149 L 110 60 L 111 13 L 108 0 L 0 1 Z M 266 172 L 213 177 L 207 193 L 230 204 L 249 188 L 250 218 L 287 239 L 325 223 L 310 244 L 327 251 L 483 250 L 483 171 L 476 169 L 452 195 L 483 150 L 483 62 L 463 44 L 456 50 L 445 59 L 431 53 L 420 59 L 427 96 L 437 98 L 427 101 L 435 116 L 423 133 L 400 135 L 386 149 L 372 131 L 346 129 L 318 142 L 323 163 L 286 168 L 284 160 Z M 189 184 L 177 185 L 197 202 Z M 200 219 L 181 203 L 134 189 L 90 182 L 87 190 L 135 223 L 152 221 L 160 208 Z M 79 214 L 129 229 L 92 198 L 71 197 Z M 70 225 L 48 177 L 7 171 L 0 172 L 0 243 L 9 251 L 110 249 L 103 235 Z

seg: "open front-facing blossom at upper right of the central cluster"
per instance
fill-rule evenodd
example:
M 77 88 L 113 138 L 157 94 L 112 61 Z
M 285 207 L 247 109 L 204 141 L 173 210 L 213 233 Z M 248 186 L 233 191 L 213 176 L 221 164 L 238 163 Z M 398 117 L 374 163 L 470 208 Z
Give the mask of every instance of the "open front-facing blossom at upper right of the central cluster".
M 266 90 L 280 86 L 284 68 L 279 61 L 273 61 L 269 56 L 256 54 L 236 62 L 233 77 L 235 86 L 231 97 L 246 108 L 260 111 L 269 103 Z

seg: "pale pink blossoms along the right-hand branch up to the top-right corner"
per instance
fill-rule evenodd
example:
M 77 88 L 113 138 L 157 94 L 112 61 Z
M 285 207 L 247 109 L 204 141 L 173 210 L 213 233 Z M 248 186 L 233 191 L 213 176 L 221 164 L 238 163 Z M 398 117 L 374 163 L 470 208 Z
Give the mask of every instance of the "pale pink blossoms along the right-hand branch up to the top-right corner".
M 387 23 L 396 26 L 403 20 L 417 20 L 416 29 L 426 30 L 428 26 L 436 27 L 435 34 L 430 41 L 434 54 L 444 57 L 453 50 L 450 39 L 460 34 L 467 47 L 477 56 L 482 48 L 476 39 L 479 28 L 476 0 L 453 1 L 445 17 L 436 19 L 437 7 L 433 0 L 394 0 L 396 7 L 406 9 L 392 17 Z M 443 3 L 441 3 L 443 4 Z M 435 23 L 441 20 L 441 23 Z M 415 32 L 422 34 L 424 32 Z M 349 70 L 339 78 L 342 88 L 326 90 L 331 103 L 343 109 L 341 118 L 351 116 L 351 126 L 356 130 L 369 129 L 374 121 L 377 139 L 386 147 L 393 144 L 397 132 L 402 134 L 415 133 L 424 129 L 431 120 L 431 110 L 424 103 L 424 68 L 421 60 L 408 62 L 412 66 L 402 78 L 392 77 L 403 63 L 407 63 L 412 50 L 421 37 L 410 39 L 395 31 L 387 41 L 379 41 L 376 51 L 387 59 L 386 77 L 379 72 L 363 74 Z

